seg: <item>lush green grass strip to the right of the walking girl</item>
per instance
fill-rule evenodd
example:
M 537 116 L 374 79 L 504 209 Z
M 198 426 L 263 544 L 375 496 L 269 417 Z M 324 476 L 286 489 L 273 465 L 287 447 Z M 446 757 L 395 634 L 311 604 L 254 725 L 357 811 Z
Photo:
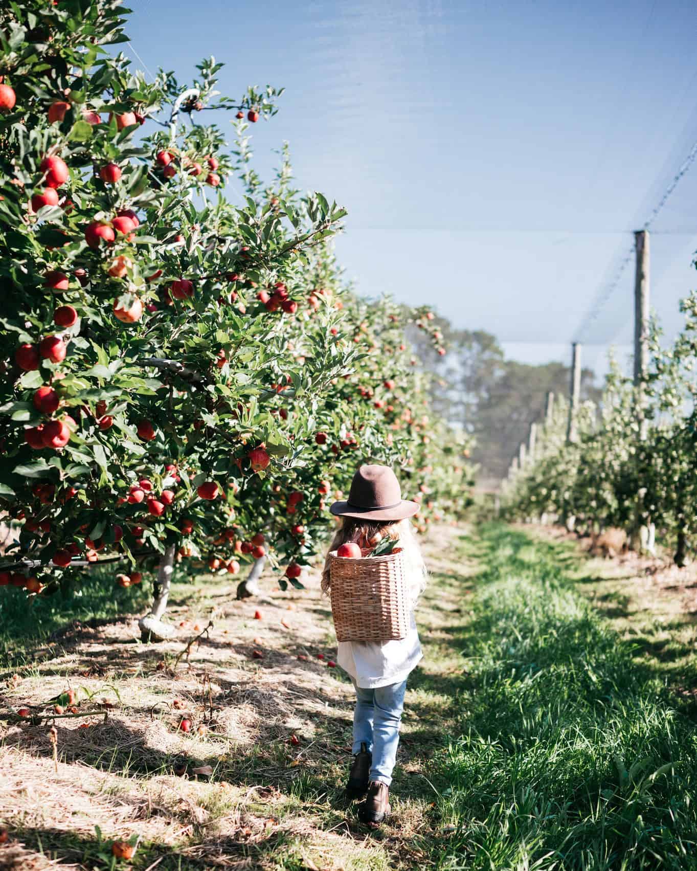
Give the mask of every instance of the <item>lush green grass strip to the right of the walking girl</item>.
M 476 546 L 438 867 L 697 868 L 693 724 L 575 589 L 568 551 L 502 526 Z

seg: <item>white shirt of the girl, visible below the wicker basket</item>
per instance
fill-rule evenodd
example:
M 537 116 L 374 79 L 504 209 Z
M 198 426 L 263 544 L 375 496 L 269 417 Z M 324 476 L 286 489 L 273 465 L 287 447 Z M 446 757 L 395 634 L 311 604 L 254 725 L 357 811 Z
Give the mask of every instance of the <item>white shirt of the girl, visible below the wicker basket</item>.
M 340 641 L 336 662 L 363 689 L 401 684 L 423 658 L 414 611 L 405 638 L 393 641 Z

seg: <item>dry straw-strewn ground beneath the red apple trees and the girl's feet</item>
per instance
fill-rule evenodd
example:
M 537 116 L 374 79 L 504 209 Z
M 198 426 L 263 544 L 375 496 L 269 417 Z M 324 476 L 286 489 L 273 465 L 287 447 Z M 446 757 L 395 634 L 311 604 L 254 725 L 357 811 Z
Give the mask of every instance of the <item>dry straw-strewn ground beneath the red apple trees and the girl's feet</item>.
M 227 576 L 206 578 L 177 587 L 177 638 L 166 644 L 142 645 L 131 617 L 73 625 L 0 673 L 0 711 L 50 712 L 71 687 L 85 713 L 55 720 L 56 760 L 45 719 L 0 720 L 0 822 L 11 834 L 0 868 L 109 868 L 112 839 L 132 835 L 142 871 L 423 867 L 420 843 L 434 826 L 428 760 L 455 726 L 450 675 L 462 670 L 449 630 L 462 622 L 464 566 L 447 556 L 461 534 L 436 530 L 426 547 L 437 573 L 419 618 L 427 660 L 410 683 L 392 825 L 369 834 L 342 797 L 353 692 L 327 665 L 335 645 L 318 574 L 304 592 L 267 578 L 262 604 L 237 602 Z M 209 618 L 213 628 L 175 665 Z

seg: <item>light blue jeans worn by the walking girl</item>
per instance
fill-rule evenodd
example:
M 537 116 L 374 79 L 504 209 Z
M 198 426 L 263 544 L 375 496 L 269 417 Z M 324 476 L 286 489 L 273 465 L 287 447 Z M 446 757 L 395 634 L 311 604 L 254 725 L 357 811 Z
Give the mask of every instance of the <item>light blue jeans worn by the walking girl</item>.
M 373 690 L 355 686 L 353 752 L 360 753 L 364 741 L 368 752 L 373 754 L 369 779 L 379 780 L 388 787 L 397 758 L 406 689 L 406 680 L 401 684 L 376 686 Z

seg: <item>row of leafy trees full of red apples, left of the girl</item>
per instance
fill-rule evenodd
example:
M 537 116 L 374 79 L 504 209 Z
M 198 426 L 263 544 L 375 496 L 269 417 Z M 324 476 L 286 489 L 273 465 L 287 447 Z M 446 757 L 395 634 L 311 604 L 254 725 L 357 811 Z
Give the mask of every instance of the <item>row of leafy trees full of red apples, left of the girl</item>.
M 0 584 L 45 595 L 110 555 L 137 583 L 154 559 L 157 634 L 176 559 L 300 584 L 359 461 L 400 467 L 420 530 L 470 469 L 405 338 L 443 354 L 433 315 L 342 286 L 345 210 L 294 190 L 287 152 L 254 172 L 281 91 L 221 96 L 213 59 L 149 83 L 112 51 L 123 24 L 115 0 L 0 10 Z

